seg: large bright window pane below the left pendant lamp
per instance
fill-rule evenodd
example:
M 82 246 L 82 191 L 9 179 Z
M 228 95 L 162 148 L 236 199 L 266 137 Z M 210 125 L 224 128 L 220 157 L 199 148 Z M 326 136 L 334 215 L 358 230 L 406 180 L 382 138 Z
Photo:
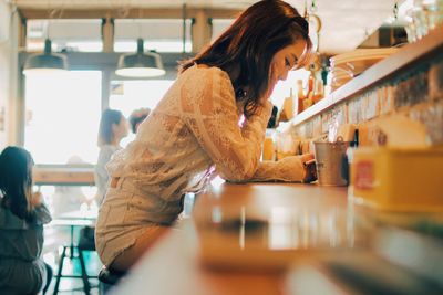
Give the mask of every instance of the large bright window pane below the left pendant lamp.
M 27 76 L 24 147 L 37 164 L 95 164 L 101 87 L 101 71 Z

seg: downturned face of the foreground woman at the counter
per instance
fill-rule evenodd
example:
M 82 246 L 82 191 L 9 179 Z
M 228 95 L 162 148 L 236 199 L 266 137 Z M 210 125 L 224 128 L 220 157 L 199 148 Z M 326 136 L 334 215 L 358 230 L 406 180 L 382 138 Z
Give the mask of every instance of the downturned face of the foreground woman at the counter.
M 288 77 L 288 72 L 297 67 L 298 61 L 305 52 L 305 48 L 306 41 L 300 39 L 291 45 L 281 49 L 274 55 L 270 63 L 268 97 L 272 93 L 277 82 L 279 80 L 285 81 Z

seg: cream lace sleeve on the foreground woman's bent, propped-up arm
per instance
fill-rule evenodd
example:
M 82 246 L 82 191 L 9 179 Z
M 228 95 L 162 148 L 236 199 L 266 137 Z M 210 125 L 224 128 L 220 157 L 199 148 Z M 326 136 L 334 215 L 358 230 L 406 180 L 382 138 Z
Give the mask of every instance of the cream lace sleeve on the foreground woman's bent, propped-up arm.
M 255 173 L 270 108 L 266 104 L 240 129 L 233 85 L 218 69 L 199 69 L 181 93 L 186 125 L 220 176 L 233 181 Z

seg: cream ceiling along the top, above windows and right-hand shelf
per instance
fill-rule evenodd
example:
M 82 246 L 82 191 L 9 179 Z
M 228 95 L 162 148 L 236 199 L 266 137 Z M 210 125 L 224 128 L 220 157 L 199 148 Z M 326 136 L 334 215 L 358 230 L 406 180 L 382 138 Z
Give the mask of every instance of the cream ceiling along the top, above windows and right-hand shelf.
M 253 0 L 6 0 L 21 9 L 132 9 L 187 8 L 239 9 L 257 2 Z M 308 6 L 312 0 L 307 0 Z M 299 11 L 303 11 L 303 0 L 288 0 Z M 322 22 L 320 51 L 336 54 L 356 49 L 384 20 L 392 15 L 395 2 L 402 0 L 316 0 L 317 14 Z

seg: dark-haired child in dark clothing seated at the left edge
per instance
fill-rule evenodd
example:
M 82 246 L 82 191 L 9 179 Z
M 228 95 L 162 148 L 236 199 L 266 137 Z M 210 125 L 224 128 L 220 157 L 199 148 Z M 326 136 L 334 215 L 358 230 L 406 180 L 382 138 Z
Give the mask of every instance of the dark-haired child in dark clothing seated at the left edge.
M 23 148 L 0 155 L 0 294 L 44 294 L 52 278 L 40 257 L 51 215 L 41 193 L 32 193 L 32 166 Z

